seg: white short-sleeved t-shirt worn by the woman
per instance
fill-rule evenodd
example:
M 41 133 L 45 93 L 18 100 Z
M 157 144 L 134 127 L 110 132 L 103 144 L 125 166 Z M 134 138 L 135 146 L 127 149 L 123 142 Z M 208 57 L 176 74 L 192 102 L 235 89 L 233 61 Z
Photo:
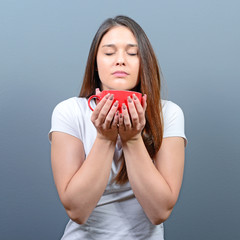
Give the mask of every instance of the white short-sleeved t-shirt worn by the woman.
M 181 108 L 171 101 L 162 100 L 164 120 L 163 137 L 183 137 L 184 115 Z M 95 107 L 95 102 L 91 101 Z M 85 155 L 89 154 L 96 138 L 96 129 L 91 122 L 92 111 L 86 98 L 72 97 L 60 102 L 53 110 L 49 140 L 53 131 L 68 133 L 79 138 L 84 146 Z M 114 159 L 108 185 L 85 224 L 79 225 L 69 220 L 62 240 L 163 240 L 163 224 L 153 225 L 145 215 L 128 183 L 112 183 L 120 164 L 120 139 L 116 144 Z

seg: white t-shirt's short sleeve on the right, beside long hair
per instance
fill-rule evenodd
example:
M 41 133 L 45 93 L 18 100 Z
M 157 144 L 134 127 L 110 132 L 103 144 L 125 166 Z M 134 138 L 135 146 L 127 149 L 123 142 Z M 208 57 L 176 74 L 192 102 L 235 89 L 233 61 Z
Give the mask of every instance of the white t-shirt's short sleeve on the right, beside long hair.
M 163 138 L 182 137 L 185 139 L 185 145 L 187 145 L 184 114 L 182 109 L 171 101 L 163 101 L 163 120 Z

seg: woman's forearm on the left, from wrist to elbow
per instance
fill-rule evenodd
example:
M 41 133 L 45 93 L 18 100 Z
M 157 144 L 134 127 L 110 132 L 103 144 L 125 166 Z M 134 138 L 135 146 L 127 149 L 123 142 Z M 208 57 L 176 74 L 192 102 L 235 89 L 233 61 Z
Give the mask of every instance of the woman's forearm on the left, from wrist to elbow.
M 115 143 L 96 138 L 91 152 L 74 174 L 64 193 L 68 215 L 84 223 L 101 198 L 108 183 Z

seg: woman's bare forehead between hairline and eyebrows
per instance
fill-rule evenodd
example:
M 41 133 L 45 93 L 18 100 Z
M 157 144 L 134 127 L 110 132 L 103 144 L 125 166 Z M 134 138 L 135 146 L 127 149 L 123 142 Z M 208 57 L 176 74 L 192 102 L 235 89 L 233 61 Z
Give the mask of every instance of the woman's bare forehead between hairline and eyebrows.
M 137 44 L 137 40 L 129 28 L 115 26 L 103 36 L 100 45 L 118 43 Z

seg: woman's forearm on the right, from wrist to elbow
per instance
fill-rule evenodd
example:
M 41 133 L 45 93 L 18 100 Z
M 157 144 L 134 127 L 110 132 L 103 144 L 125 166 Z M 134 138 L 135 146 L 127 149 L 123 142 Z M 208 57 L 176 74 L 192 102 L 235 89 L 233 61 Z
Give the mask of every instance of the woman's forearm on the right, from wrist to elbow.
M 152 223 L 163 222 L 174 206 L 170 186 L 153 164 L 142 138 L 123 144 L 123 152 L 136 198 Z

